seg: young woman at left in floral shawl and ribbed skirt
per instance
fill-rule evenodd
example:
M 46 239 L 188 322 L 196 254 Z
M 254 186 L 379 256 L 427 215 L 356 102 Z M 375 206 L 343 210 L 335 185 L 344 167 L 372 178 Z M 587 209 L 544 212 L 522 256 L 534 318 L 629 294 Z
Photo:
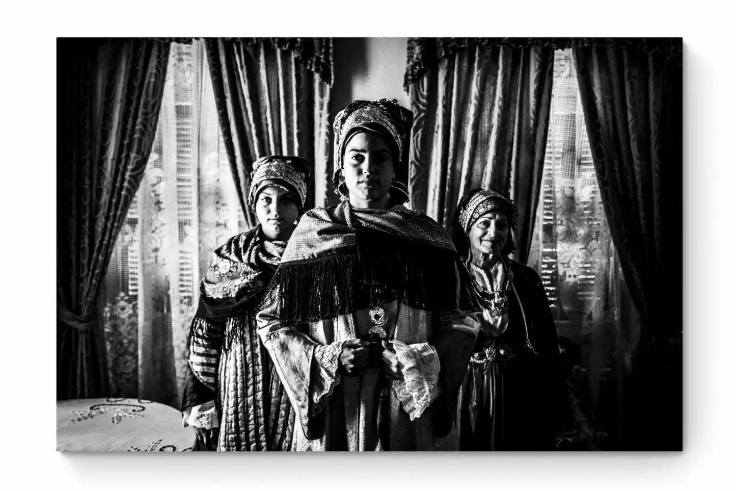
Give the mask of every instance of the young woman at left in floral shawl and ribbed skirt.
M 248 203 L 259 224 L 218 248 L 202 280 L 182 403 L 196 450 L 290 450 L 294 411 L 255 313 L 304 211 L 307 177 L 298 157 L 255 161 Z

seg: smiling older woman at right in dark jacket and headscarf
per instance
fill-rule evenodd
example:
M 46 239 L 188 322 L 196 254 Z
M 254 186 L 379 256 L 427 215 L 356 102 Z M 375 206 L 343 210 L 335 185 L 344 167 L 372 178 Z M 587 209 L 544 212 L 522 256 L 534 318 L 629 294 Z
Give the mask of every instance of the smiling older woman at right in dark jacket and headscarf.
M 551 450 L 565 414 L 547 295 L 533 269 L 509 259 L 514 226 L 513 203 L 486 189 L 464 196 L 453 223 L 483 304 L 459 395 L 460 450 Z

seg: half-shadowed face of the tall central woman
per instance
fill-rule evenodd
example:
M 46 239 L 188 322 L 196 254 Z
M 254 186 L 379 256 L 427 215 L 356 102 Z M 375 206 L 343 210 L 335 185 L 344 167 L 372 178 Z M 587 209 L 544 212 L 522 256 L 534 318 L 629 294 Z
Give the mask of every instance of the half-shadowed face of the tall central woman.
M 389 145 L 375 133 L 356 133 L 345 145 L 342 175 L 357 208 L 386 208 L 394 180 Z

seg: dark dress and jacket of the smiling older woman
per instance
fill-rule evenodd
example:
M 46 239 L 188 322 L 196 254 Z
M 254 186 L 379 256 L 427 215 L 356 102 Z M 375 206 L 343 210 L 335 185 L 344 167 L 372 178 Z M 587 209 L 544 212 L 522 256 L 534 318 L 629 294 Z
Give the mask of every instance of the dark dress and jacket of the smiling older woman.
M 508 313 L 483 309 L 460 389 L 460 450 L 553 450 L 564 417 L 565 380 L 544 286 L 533 269 L 507 261 Z M 475 265 L 470 273 L 489 291 L 488 273 Z

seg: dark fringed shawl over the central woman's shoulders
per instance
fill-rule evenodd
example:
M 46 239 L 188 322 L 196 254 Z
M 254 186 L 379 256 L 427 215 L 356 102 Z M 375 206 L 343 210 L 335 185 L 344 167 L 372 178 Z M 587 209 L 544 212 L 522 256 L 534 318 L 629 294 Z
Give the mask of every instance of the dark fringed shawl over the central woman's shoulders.
M 287 326 L 392 300 L 422 310 L 478 305 L 439 223 L 403 206 L 355 209 L 347 202 L 302 217 L 266 296 Z

